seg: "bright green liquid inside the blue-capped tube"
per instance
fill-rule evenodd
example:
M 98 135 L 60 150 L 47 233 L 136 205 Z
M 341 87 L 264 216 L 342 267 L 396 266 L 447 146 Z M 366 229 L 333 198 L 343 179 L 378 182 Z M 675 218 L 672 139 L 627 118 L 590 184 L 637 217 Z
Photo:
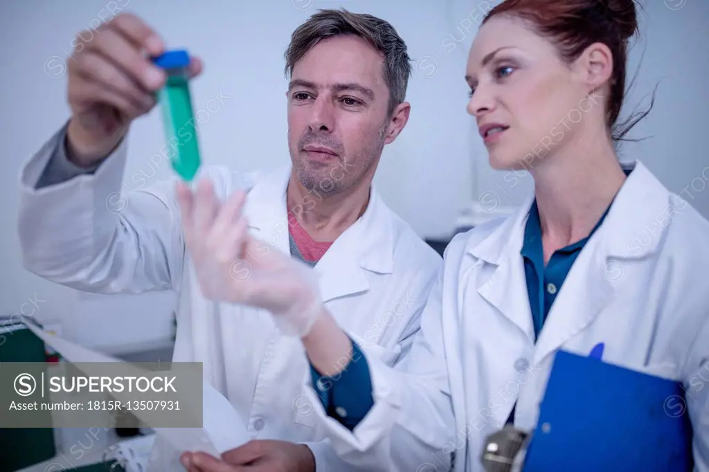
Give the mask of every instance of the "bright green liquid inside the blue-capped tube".
M 199 169 L 199 143 L 189 83 L 171 76 L 159 95 L 172 168 L 186 181 Z

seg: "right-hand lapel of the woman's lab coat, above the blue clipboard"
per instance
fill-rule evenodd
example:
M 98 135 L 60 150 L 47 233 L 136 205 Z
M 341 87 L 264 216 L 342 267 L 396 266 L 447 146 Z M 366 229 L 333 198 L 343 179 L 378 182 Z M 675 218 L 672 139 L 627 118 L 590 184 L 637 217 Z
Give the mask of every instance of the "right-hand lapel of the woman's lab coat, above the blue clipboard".
M 623 284 L 633 283 L 630 271 L 657 250 L 666 225 L 648 240 L 648 225 L 669 208 L 669 193 L 639 162 L 618 192 L 603 224 L 586 242 L 571 267 L 542 329 L 535 365 L 596 320 Z M 634 242 L 648 241 L 645 245 Z M 624 313 L 618 313 L 623 316 Z M 602 341 L 602 339 L 601 339 Z M 599 342 L 601 342 L 599 341 Z

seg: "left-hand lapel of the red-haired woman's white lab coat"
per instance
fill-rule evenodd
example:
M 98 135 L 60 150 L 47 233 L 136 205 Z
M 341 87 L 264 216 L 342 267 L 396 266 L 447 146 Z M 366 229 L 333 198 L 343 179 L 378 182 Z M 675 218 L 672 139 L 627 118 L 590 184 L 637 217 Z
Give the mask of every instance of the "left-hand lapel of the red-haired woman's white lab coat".
M 478 293 L 534 342 L 534 325 L 527 295 L 527 281 L 520 255 L 524 225 L 533 198 L 520 207 L 491 235 L 468 249 L 477 259 L 494 266 L 493 273 L 477 288 Z

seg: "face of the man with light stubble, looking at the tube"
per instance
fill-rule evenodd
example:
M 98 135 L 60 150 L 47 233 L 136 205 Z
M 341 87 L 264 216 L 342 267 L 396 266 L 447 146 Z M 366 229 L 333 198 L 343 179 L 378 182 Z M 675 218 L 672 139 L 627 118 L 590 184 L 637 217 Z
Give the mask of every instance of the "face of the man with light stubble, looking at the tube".
M 352 35 L 321 40 L 299 60 L 288 97 L 288 145 L 304 187 L 340 193 L 372 178 L 391 123 L 384 62 Z

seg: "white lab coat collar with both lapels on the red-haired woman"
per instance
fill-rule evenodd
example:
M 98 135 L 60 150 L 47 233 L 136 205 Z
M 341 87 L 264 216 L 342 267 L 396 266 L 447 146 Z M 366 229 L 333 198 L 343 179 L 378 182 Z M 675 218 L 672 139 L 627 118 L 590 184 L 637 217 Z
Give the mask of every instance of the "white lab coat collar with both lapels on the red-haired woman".
M 553 327 L 542 330 L 537 342 L 535 363 L 588 326 L 601 313 L 617 286 L 627 279 L 623 277 L 626 264 L 657 251 L 664 237 L 671 215 L 669 192 L 642 163 L 632 162 L 623 167 L 632 169 L 632 173 L 574 264 L 590 264 L 598 270 L 592 270 L 589 279 L 587 274 L 578 274 L 578 269 L 571 268 L 545 323 Z M 534 326 L 520 249 L 533 202 L 534 196 L 529 196 L 512 217 L 484 240 L 470 238 L 466 249 L 473 257 L 496 266 L 493 275 L 478 287 L 479 294 L 523 330 L 532 343 Z M 574 316 L 553 316 L 555 311 L 568 312 L 571 306 Z

